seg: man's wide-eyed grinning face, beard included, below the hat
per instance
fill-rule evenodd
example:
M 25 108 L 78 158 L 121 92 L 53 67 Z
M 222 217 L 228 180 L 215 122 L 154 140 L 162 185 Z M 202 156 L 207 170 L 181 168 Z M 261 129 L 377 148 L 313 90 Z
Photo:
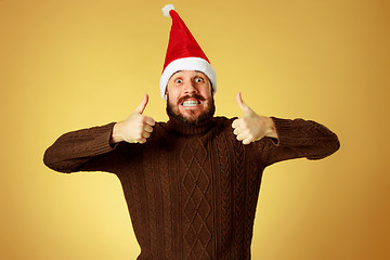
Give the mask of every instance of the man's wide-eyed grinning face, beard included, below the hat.
M 213 91 L 208 77 L 195 70 L 180 70 L 168 81 L 167 113 L 186 123 L 200 123 L 213 116 Z

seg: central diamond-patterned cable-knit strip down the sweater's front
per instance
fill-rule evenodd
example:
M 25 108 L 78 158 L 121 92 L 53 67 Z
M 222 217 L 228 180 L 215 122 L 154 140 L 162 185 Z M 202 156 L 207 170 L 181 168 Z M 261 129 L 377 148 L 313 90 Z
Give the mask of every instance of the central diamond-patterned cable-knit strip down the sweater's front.
M 207 151 L 199 139 L 185 143 L 180 161 L 183 165 L 182 203 L 184 259 L 211 259 L 208 250 L 212 238 L 212 183 L 206 170 Z

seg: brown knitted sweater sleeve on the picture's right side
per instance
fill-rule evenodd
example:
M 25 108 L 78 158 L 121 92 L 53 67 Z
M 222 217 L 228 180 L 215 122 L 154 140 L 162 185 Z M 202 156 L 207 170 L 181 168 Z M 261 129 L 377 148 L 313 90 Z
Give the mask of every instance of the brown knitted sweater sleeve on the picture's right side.
M 322 159 L 340 147 L 338 136 L 325 126 L 312 120 L 272 117 L 278 139 L 266 142 L 262 161 L 272 165 L 281 160 L 302 158 Z

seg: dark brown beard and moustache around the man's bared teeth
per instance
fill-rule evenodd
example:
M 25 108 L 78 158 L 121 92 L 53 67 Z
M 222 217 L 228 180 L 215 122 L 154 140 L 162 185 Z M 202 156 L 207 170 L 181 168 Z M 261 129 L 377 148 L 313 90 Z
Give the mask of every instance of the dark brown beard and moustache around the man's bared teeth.
M 187 118 L 187 117 L 183 116 L 179 109 L 178 109 L 178 112 L 173 110 L 173 106 L 172 106 L 172 104 L 170 104 L 169 95 L 168 95 L 167 96 L 167 114 L 168 114 L 168 116 L 170 118 L 173 118 L 173 119 L 186 125 L 186 126 L 199 126 L 213 117 L 213 114 L 216 113 L 216 104 L 214 104 L 213 96 L 206 100 L 205 98 L 197 95 L 197 94 L 186 95 L 179 100 L 178 105 L 181 104 L 184 100 L 186 100 L 188 98 L 195 98 L 200 101 L 207 101 L 207 104 L 208 104 L 207 109 L 204 110 L 196 118 Z

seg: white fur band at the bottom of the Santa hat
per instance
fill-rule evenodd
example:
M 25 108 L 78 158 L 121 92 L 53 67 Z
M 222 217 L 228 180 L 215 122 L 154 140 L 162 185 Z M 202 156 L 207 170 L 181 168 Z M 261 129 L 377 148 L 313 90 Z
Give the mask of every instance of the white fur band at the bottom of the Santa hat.
M 211 87 L 217 92 L 217 76 L 211 65 L 202 57 L 182 57 L 174 60 L 164 69 L 160 78 L 161 98 L 165 99 L 165 92 L 170 77 L 179 70 L 197 70 L 204 73 L 210 80 Z

